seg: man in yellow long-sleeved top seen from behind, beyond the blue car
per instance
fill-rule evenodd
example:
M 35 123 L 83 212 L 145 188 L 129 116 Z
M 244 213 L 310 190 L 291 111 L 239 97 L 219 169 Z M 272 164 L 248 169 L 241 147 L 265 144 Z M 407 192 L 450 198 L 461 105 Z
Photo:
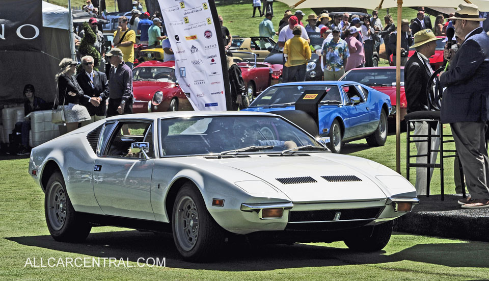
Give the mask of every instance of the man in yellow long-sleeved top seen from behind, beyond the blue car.
M 304 81 L 307 62 L 311 58 L 309 43 L 301 37 L 301 26 L 295 25 L 292 34 L 294 37 L 287 40 L 284 45 L 284 57 L 287 59 L 285 66 L 288 67 L 288 75 L 283 78 L 283 82 Z

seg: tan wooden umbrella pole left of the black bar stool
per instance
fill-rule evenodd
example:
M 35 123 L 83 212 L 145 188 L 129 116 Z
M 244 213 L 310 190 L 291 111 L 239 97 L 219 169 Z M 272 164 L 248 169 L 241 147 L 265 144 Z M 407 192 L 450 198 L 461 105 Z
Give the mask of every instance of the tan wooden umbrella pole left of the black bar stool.
M 397 42 L 396 42 L 396 172 L 401 173 L 401 19 L 402 0 L 397 0 Z M 407 51 L 407 50 L 406 50 Z

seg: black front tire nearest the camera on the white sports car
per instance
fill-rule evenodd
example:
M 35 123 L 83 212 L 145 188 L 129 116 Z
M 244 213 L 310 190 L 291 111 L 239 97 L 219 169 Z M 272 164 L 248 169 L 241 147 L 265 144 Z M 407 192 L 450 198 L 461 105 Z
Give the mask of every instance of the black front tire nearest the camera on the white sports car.
M 190 250 L 185 250 L 180 245 L 175 223 L 177 212 L 180 211 L 177 210 L 178 202 L 186 196 L 192 198 L 198 212 L 198 236 L 195 245 Z M 185 261 L 207 262 L 218 257 L 226 238 L 225 230 L 209 214 L 202 195 L 193 183 L 185 183 L 177 193 L 172 212 L 172 229 L 175 246 Z

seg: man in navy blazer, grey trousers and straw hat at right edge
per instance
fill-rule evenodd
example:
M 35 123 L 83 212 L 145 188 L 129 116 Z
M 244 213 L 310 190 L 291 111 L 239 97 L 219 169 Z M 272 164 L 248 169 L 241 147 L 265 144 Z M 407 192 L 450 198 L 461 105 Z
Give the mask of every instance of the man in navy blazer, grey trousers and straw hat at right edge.
M 441 121 L 450 123 L 470 197 L 458 200 L 464 209 L 489 208 L 489 160 L 485 148 L 489 114 L 489 36 L 479 27 L 479 9 L 460 4 L 450 17 L 455 35 L 464 41 L 456 53 L 444 50 L 449 60 L 440 74 L 443 94 Z

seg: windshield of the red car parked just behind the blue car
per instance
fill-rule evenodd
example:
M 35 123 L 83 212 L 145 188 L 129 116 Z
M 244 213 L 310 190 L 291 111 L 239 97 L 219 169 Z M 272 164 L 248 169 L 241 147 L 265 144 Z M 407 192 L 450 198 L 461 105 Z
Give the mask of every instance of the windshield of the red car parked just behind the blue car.
M 396 83 L 396 69 L 355 69 L 348 72 L 341 81 L 354 81 L 367 86 L 392 86 L 392 83 Z M 401 68 L 401 82 L 403 81 L 404 69 Z

